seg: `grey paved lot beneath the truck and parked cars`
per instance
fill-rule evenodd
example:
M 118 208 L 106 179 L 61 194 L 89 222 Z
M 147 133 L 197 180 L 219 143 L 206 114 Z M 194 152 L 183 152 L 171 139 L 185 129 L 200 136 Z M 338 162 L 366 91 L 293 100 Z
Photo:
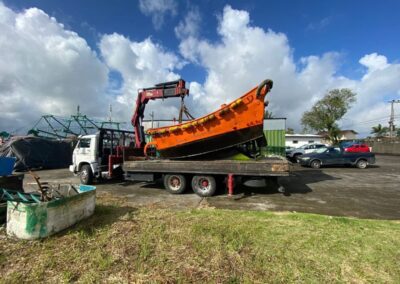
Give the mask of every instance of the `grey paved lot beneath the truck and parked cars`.
M 161 183 L 107 182 L 97 184 L 98 195 L 122 199 L 130 206 L 176 209 L 215 207 L 223 209 L 297 211 L 333 216 L 400 219 L 400 156 L 377 155 L 376 164 L 360 170 L 352 167 L 314 170 L 293 165 L 290 177 L 279 179 L 285 188 L 253 183 L 235 189 L 228 197 L 220 189 L 214 197 L 193 192 L 172 195 Z M 67 169 L 37 172 L 42 181 L 79 183 Z M 34 188 L 29 175 L 25 188 Z

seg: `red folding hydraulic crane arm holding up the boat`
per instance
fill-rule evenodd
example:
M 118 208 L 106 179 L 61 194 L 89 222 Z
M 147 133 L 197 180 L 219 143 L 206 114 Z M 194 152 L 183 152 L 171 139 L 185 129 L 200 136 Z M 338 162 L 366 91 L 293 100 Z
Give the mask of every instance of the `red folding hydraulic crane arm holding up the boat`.
M 139 91 L 136 99 L 135 112 L 131 120 L 135 129 L 136 148 L 143 148 L 146 143 L 142 120 L 144 109 L 148 101 L 173 97 L 181 97 L 183 99 L 187 95 L 189 95 L 189 90 L 185 88 L 185 81 L 183 79 L 160 83 L 154 87 L 145 88 Z

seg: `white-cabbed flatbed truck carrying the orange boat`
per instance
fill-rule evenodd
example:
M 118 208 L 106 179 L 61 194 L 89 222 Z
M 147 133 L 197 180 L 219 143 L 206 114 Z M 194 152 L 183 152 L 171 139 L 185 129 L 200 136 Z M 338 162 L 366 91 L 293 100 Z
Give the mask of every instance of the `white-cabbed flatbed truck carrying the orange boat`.
M 223 182 L 233 194 L 238 180 L 277 181 L 277 177 L 289 175 L 289 163 L 284 158 L 147 159 L 132 147 L 134 137 L 133 132 L 115 129 L 100 129 L 96 134 L 79 137 L 70 171 L 79 175 L 83 184 L 91 184 L 94 179 L 98 182 L 111 178 L 145 182 L 162 179 L 165 189 L 172 194 L 183 193 L 190 185 L 202 197 L 214 195 L 217 185 Z

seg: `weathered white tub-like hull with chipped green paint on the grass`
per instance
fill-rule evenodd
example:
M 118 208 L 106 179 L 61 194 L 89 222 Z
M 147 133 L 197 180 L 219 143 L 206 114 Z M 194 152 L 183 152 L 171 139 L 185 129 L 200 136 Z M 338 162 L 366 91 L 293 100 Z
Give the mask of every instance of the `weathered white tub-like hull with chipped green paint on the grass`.
M 7 202 L 7 234 L 33 240 L 51 236 L 94 213 L 96 187 L 79 187 L 80 193 L 41 203 Z

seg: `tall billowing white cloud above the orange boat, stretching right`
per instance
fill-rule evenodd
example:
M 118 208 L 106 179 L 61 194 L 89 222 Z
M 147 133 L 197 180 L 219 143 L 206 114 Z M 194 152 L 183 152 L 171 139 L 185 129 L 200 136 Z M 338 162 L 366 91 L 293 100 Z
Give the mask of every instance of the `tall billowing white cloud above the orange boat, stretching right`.
M 400 64 L 388 63 L 382 55 L 360 59 L 367 67 L 360 80 L 338 74 L 342 58 L 337 52 L 303 57 L 296 64 L 285 34 L 251 25 L 248 12 L 230 6 L 220 17 L 218 34 L 215 42 L 189 36 L 179 46 L 182 56 L 207 70 L 204 84 L 191 83 L 193 104 L 204 111 L 212 111 L 270 78 L 274 81 L 268 95 L 270 111 L 287 117 L 288 126 L 300 130 L 304 111 L 328 90 L 347 87 L 358 93 L 358 101 L 342 124 L 367 133 L 371 125 L 362 121 L 382 116 L 387 109 L 383 98 L 398 96 L 400 90 Z

